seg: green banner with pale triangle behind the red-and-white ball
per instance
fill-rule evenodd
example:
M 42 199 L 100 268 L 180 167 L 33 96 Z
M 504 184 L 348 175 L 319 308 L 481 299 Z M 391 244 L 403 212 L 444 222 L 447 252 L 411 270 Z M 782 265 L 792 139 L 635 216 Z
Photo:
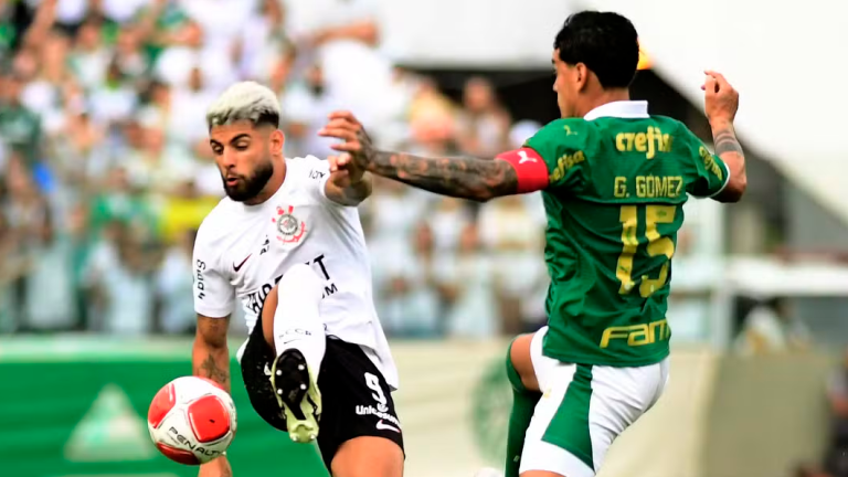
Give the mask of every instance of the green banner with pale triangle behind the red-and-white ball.
M 197 476 L 197 467 L 159 455 L 146 422 L 156 391 L 191 373 L 190 341 L 98 340 L 0 344 L 0 474 Z M 265 476 L 268 456 L 285 454 L 288 475 L 325 477 L 312 447 L 293 444 L 253 412 L 235 361 L 231 369 L 239 430 L 227 454 L 236 475 Z

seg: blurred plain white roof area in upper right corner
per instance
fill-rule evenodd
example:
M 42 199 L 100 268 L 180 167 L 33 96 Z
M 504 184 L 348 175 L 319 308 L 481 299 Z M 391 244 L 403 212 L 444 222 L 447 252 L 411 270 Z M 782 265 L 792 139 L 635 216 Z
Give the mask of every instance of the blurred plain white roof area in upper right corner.
M 703 70 L 740 91 L 743 144 L 848 221 L 848 3 L 587 0 L 636 24 L 651 67 L 702 107 Z

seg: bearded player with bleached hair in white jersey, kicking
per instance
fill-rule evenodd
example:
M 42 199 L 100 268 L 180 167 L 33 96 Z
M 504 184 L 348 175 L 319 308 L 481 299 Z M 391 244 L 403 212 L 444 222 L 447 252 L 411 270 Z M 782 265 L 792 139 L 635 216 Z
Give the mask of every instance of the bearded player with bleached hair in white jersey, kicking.
M 251 332 L 236 357 L 256 412 L 296 442 L 317 438 L 336 477 L 400 477 L 398 371 L 356 208 L 371 183 L 337 158 L 284 157 L 279 115 L 276 96 L 253 82 L 206 114 L 227 197 L 194 244 L 194 374 L 230 389 L 226 329 L 241 301 Z M 200 470 L 231 473 L 225 457 Z

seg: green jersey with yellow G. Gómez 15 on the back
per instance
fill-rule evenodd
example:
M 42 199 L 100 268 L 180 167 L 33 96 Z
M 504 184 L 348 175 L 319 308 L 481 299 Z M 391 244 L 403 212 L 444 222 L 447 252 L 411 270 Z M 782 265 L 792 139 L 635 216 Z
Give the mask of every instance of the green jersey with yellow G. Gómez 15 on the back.
M 612 367 L 661 361 L 683 203 L 720 192 L 727 166 L 681 123 L 647 114 L 559 119 L 524 147 L 549 174 L 544 354 Z

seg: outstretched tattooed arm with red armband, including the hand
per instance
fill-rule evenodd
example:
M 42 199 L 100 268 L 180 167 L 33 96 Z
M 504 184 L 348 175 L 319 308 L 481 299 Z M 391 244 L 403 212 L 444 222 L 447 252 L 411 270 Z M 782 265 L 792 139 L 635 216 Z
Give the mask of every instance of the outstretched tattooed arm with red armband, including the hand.
M 332 148 L 348 152 L 351 161 L 369 172 L 442 195 L 485 202 L 548 186 L 547 168 L 531 149 L 506 152 L 494 160 L 383 151 L 374 147 L 362 125 L 348 112 L 331 114 L 319 135 L 342 139 L 344 142 Z

